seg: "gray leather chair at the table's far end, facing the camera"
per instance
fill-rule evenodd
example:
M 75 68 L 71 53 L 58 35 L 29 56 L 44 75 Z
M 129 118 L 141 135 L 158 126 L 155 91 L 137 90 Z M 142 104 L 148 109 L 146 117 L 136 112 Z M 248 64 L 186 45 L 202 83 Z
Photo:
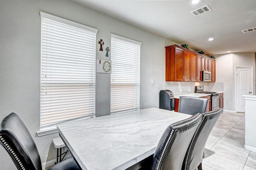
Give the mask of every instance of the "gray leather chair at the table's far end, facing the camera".
M 208 99 L 180 96 L 178 112 L 194 115 L 205 113 Z

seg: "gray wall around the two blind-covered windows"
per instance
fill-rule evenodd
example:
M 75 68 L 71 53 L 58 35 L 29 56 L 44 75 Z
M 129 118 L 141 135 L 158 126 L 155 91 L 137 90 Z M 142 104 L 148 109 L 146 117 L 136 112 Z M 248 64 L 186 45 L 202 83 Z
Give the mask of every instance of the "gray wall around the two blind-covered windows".
M 52 139 L 58 134 L 37 137 L 40 126 L 40 29 L 39 12 L 46 12 L 98 29 L 97 41 L 110 47 L 110 33 L 142 42 L 140 107 L 159 107 L 159 91 L 165 81 L 165 46 L 174 42 L 153 35 L 72 1 L 0 1 L 0 118 L 16 112 L 36 141 L 42 162 L 53 160 Z M 110 49 L 111 50 L 111 49 Z M 105 51 L 96 56 L 105 57 Z M 154 84 L 150 84 L 154 79 Z M 96 74 L 96 115 L 110 114 L 110 74 Z M 1 170 L 15 169 L 0 149 Z

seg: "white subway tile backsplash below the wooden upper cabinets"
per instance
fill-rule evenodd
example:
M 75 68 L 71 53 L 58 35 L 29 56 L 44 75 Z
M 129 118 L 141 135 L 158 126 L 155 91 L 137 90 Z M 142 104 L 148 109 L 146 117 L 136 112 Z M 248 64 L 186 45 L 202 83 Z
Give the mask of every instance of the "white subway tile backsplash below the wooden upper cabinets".
M 194 93 L 195 86 L 204 86 L 204 91 L 224 91 L 223 82 L 165 82 L 165 90 L 171 90 L 174 93 L 174 96 Z M 180 92 L 180 90 L 182 90 L 182 92 Z

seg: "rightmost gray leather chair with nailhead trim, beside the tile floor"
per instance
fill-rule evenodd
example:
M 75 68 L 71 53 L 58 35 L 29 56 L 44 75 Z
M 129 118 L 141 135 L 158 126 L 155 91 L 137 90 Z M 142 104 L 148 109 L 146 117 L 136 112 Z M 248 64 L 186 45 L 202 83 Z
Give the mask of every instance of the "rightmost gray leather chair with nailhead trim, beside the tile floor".
M 182 170 L 195 170 L 196 168 L 202 170 L 202 160 L 206 141 L 222 112 L 223 109 L 218 108 L 214 111 L 202 114 L 202 121 L 190 142 L 184 158 Z

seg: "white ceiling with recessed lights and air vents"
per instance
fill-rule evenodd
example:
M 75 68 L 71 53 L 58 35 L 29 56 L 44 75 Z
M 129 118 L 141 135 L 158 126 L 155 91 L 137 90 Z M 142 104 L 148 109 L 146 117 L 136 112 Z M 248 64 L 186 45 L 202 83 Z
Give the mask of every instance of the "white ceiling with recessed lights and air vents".
M 196 5 L 190 0 L 73 1 L 207 55 L 256 52 L 256 31 L 242 33 L 256 27 L 256 0 L 202 0 Z M 205 5 L 212 11 L 196 17 L 190 13 Z

